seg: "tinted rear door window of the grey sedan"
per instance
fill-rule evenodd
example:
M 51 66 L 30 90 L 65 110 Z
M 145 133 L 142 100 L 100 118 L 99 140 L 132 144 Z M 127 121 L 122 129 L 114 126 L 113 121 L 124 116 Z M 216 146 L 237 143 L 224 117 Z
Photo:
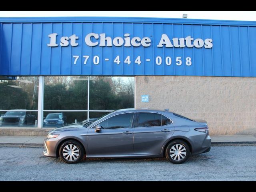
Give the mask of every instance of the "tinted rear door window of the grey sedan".
M 140 113 L 138 127 L 161 126 L 161 114 L 157 113 Z

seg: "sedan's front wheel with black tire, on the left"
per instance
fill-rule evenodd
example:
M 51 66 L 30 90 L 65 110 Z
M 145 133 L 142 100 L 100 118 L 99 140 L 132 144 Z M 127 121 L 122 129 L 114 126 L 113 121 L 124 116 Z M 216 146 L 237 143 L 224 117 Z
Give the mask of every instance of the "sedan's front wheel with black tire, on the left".
M 67 152 L 68 148 L 72 148 L 73 150 L 75 149 L 74 150 L 75 153 L 73 153 L 73 156 L 71 156 L 71 160 L 70 160 L 70 155 L 68 156 L 68 152 Z M 78 150 L 78 152 L 77 152 L 77 150 Z M 78 154 L 78 156 L 77 156 L 77 154 Z M 77 141 L 68 140 L 60 146 L 59 155 L 60 155 L 60 158 L 62 159 L 62 161 L 66 162 L 66 163 L 70 163 L 70 164 L 78 163 L 84 158 L 84 147 Z

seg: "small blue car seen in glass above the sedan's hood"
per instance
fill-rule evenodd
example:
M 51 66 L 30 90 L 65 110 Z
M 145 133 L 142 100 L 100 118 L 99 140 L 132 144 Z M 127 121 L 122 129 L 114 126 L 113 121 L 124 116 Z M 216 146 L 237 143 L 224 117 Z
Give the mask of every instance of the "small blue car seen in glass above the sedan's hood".
M 44 127 L 60 127 L 67 124 L 67 118 L 63 113 L 49 113 L 46 118 L 44 118 Z

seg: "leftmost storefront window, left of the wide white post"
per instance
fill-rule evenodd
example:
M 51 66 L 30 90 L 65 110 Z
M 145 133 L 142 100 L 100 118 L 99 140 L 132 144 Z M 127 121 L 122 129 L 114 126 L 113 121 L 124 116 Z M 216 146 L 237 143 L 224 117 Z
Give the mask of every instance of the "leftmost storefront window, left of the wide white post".
M 38 77 L 0 80 L 0 127 L 36 127 Z

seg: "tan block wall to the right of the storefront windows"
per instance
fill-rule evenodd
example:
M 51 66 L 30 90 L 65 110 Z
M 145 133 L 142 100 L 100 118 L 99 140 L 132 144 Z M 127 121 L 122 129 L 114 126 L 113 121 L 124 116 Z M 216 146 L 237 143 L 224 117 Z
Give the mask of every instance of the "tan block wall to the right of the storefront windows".
M 135 106 L 204 119 L 210 135 L 256 134 L 256 78 L 136 76 Z

